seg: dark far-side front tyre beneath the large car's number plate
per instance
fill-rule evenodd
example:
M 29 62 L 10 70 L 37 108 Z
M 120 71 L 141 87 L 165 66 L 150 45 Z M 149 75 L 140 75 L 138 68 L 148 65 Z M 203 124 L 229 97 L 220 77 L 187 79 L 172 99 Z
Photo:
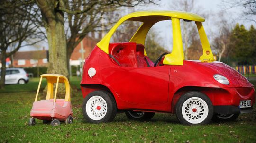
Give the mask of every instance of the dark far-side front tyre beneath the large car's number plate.
M 212 121 L 214 122 L 228 122 L 228 121 L 234 121 L 238 118 L 240 114 L 213 114 Z

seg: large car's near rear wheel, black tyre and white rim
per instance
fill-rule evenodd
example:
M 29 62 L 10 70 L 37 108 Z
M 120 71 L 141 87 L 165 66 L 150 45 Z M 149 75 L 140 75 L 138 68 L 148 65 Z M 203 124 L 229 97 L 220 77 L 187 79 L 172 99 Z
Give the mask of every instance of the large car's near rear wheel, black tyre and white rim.
M 91 123 L 112 121 L 117 113 L 114 97 L 107 91 L 94 91 L 83 100 L 83 117 Z

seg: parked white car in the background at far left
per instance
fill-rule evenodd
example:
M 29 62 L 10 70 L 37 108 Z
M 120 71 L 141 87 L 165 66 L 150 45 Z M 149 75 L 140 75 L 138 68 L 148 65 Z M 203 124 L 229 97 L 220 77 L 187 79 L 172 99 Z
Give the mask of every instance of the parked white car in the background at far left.
M 28 81 L 28 74 L 23 68 L 6 69 L 5 84 L 25 84 Z

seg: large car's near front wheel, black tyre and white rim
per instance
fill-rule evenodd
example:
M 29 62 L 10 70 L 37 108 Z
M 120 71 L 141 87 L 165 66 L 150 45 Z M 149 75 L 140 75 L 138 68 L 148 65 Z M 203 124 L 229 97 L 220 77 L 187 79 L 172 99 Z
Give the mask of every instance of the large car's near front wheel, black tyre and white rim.
M 213 116 L 210 99 L 200 92 L 185 93 L 175 106 L 176 116 L 182 124 L 207 124 Z

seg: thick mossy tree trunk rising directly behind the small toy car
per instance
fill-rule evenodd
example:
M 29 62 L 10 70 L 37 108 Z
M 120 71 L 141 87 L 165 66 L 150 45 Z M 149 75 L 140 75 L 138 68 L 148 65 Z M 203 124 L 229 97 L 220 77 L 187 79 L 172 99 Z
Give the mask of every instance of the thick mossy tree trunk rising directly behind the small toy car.
M 54 8 L 52 0 L 37 0 L 46 28 L 49 45 L 49 67 L 47 73 L 68 76 L 66 57 L 66 37 L 64 30 L 64 13 Z M 59 5 L 63 4 L 59 0 Z

